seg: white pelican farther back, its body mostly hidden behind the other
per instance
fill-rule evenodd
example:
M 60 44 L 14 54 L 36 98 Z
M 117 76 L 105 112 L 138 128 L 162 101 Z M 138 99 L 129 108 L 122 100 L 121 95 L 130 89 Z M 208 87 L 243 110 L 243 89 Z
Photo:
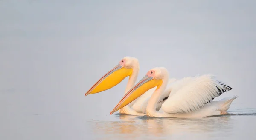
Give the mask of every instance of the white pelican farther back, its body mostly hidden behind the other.
M 89 94 L 99 93 L 119 84 L 125 77 L 129 76 L 129 80 L 125 89 L 125 93 L 134 86 L 137 76 L 140 70 L 139 61 L 134 57 L 124 57 L 118 65 L 116 65 L 113 69 L 108 71 L 104 76 L 102 76 L 90 89 L 85 93 L 85 96 Z M 175 81 L 175 78 L 169 79 L 168 83 L 172 83 Z M 138 98 L 137 100 L 132 101 L 128 104 L 128 106 L 124 106 L 120 109 L 119 113 L 121 114 L 129 114 L 129 115 L 137 115 L 144 116 L 146 113 L 146 106 L 148 104 L 149 97 L 153 93 L 155 88 L 152 88 L 146 91 L 143 96 Z M 165 94 L 168 94 L 170 91 L 163 91 Z M 163 101 L 167 98 L 160 98 L 157 103 L 156 111 L 160 109 Z

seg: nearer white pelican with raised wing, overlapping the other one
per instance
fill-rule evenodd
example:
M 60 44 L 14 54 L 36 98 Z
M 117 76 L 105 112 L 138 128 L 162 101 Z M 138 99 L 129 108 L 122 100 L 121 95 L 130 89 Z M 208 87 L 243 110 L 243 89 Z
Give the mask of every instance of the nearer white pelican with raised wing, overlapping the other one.
M 148 89 L 156 87 L 146 107 L 146 115 L 150 117 L 201 118 L 227 114 L 231 103 L 237 96 L 212 101 L 215 97 L 231 90 L 230 86 L 214 80 L 214 75 L 183 78 L 172 83 L 169 97 L 156 111 L 157 102 L 167 87 L 169 73 L 164 67 L 156 67 L 147 72 L 119 101 L 110 114 L 122 109 L 137 99 Z

